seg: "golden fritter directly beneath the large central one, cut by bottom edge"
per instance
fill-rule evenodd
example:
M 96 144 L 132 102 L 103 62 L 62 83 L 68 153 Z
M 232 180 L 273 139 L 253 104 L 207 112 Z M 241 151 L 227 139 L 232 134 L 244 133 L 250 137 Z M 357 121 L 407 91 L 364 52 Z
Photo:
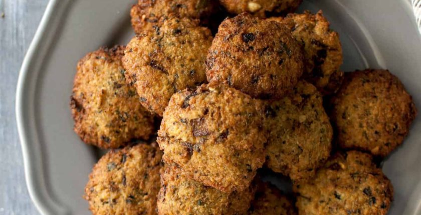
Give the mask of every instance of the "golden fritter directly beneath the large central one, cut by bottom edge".
M 169 166 L 161 176 L 158 214 L 244 214 L 254 192 L 253 186 L 243 191 L 222 192 L 189 179 L 181 169 Z

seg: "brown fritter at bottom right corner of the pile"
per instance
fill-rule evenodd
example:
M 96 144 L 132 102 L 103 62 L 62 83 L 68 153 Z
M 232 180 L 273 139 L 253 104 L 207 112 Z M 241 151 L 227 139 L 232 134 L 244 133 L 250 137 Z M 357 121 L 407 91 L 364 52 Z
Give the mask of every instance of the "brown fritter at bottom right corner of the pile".
M 299 214 L 386 214 L 393 187 L 370 154 L 338 152 L 317 171 L 316 178 L 297 184 Z

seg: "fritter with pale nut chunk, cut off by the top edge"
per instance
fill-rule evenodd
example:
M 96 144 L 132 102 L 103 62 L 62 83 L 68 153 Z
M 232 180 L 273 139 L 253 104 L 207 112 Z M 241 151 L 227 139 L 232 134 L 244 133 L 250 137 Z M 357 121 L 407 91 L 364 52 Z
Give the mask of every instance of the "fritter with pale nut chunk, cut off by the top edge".
M 220 0 L 227 10 L 234 14 L 249 12 L 265 18 L 285 15 L 297 9 L 303 0 Z

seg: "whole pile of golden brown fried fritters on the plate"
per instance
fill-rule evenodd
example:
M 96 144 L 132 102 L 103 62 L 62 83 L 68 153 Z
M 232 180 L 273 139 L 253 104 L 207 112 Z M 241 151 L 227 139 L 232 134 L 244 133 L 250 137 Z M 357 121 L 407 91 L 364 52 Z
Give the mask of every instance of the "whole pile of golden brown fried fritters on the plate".
M 289 13 L 300 3 L 139 0 L 127 46 L 79 61 L 74 129 L 111 149 L 85 188 L 93 214 L 387 213 L 373 156 L 403 142 L 412 98 L 388 70 L 343 73 L 339 34 Z

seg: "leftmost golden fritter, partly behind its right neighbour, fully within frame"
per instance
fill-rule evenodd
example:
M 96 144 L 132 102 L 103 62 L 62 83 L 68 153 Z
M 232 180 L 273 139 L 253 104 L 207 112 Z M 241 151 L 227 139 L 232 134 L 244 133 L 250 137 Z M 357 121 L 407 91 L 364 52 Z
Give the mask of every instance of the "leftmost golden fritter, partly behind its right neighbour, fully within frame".
M 126 84 L 121 63 L 124 46 L 100 48 L 77 65 L 71 96 L 75 132 L 88 144 L 117 148 L 149 138 L 153 115 Z

